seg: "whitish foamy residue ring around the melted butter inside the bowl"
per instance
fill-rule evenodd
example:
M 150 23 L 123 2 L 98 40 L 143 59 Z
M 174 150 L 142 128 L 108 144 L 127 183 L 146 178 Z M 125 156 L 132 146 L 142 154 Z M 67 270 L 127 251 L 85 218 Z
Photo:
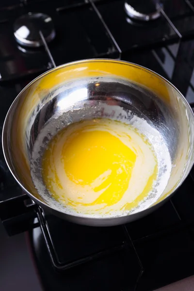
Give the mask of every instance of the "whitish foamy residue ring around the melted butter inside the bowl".
M 67 214 L 73 214 L 81 217 L 115 217 L 115 216 L 124 216 L 130 213 L 139 212 L 141 210 L 145 210 L 154 204 L 162 195 L 164 191 L 168 179 L 170 177 L 171 172 L 171 159 L 169 155 L 169 151 L 163 138 L 159 131 L 155 129 L 153 126 L 147 123 L 147 121 L 143 118 L 140 118 L 136 115 L 133 115 L 131 112 L 127 112 L 120 106 L 115 105 L 107 105 L 103 102 L 92 101 L 93 106 L 91 106 L 90 101 L 87 101 L 86 106 L 81 109 L 72 110 L 68 113 L 61 114 L 60 116 L 55 116 L 53 119 L 53 123 L 49 124 L 49 127 L 45 126 L 42 129 L 40 135 L 38 136 L 32 152 L 32 160 L 31 160 L 31 175 L 35 188 L 38 193 L 42 196 L 42 198 L 53 208 L 65 212 Z M 57 200 L 55 200 L 46 189 L 41 172 L 41 161 L 44 153 L 44 146 L 49 143 L 49 140 L 64 127 L 68 125 L 65 121 L 65 115 L 71 114 L 71 122 L 77 122 L 84 119 L 91 118 L 109 118 L 117 121 L 124 122 L 133 126 L 138 130 L 139 133 L 142 133 L 146 136 L 146 139 L 151 143 L 154 148 L 154 151 L 157 155 L 158 161 L 158 178 L 154 182 L 153 190 L 148 193 L 148 195 L 142 200 L 137 207 L 132 210 L 120 210 L 111 211 L 111 213 L 103 213 L 101 214 L 83 214 L 81 212 L 77 212 L 72 210 L 71 208 L 64 206 Z M 69 119 L 68 119 L 69 120 Z

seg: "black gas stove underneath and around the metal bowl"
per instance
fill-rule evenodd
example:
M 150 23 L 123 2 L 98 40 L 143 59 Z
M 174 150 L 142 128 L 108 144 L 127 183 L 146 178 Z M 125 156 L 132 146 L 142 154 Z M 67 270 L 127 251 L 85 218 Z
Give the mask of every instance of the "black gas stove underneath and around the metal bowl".
M 194 107 L 194 0 L 1 0 L 0 133 L 17 94 L 56 65 L 116 58 L 156 71 Z M 10 174 L 0 145 L 0 219 L 28 231 L 43 290 L 151 291 L 194 274 L 194 168 L 159 210 L 114 227 L 43 211 Z

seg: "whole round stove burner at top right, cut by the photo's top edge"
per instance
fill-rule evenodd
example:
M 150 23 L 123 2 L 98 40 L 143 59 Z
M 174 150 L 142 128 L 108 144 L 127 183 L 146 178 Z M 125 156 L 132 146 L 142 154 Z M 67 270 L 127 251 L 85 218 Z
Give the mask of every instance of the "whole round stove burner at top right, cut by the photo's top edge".
M 154 0 L 128 0 L 124 4 L 125 12 L 133 19 L 150 21 L 160 17 L 160 11 L 156 8 Z

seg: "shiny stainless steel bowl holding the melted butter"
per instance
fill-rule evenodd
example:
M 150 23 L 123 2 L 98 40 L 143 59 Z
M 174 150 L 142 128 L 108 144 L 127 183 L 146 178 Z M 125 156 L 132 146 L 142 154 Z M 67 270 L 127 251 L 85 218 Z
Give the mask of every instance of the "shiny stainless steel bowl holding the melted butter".
M 97 218 L 69 213 L 49 194 L 38 194 L 32 175 L 41 178 L 42 154 L 59 130 L 96 117 L 130 123 L 134 115 L 160 133 L 161 139 L 152 135 L 161 155 L 160 177 L 166 171 L 162 144 L 170 155 L 170 178 L 160 197 L 153 192 L 148 204 L 127 215 Z M 79 224 L 119 225 L 158 208 L 187 177 L 194 163 L 194 113 L 170 82 L 144 67 L 117 60 L 84 60 L 56 67 L 20 92 L 5 118 L 2 145 L 10 171 L 35 203 Z

